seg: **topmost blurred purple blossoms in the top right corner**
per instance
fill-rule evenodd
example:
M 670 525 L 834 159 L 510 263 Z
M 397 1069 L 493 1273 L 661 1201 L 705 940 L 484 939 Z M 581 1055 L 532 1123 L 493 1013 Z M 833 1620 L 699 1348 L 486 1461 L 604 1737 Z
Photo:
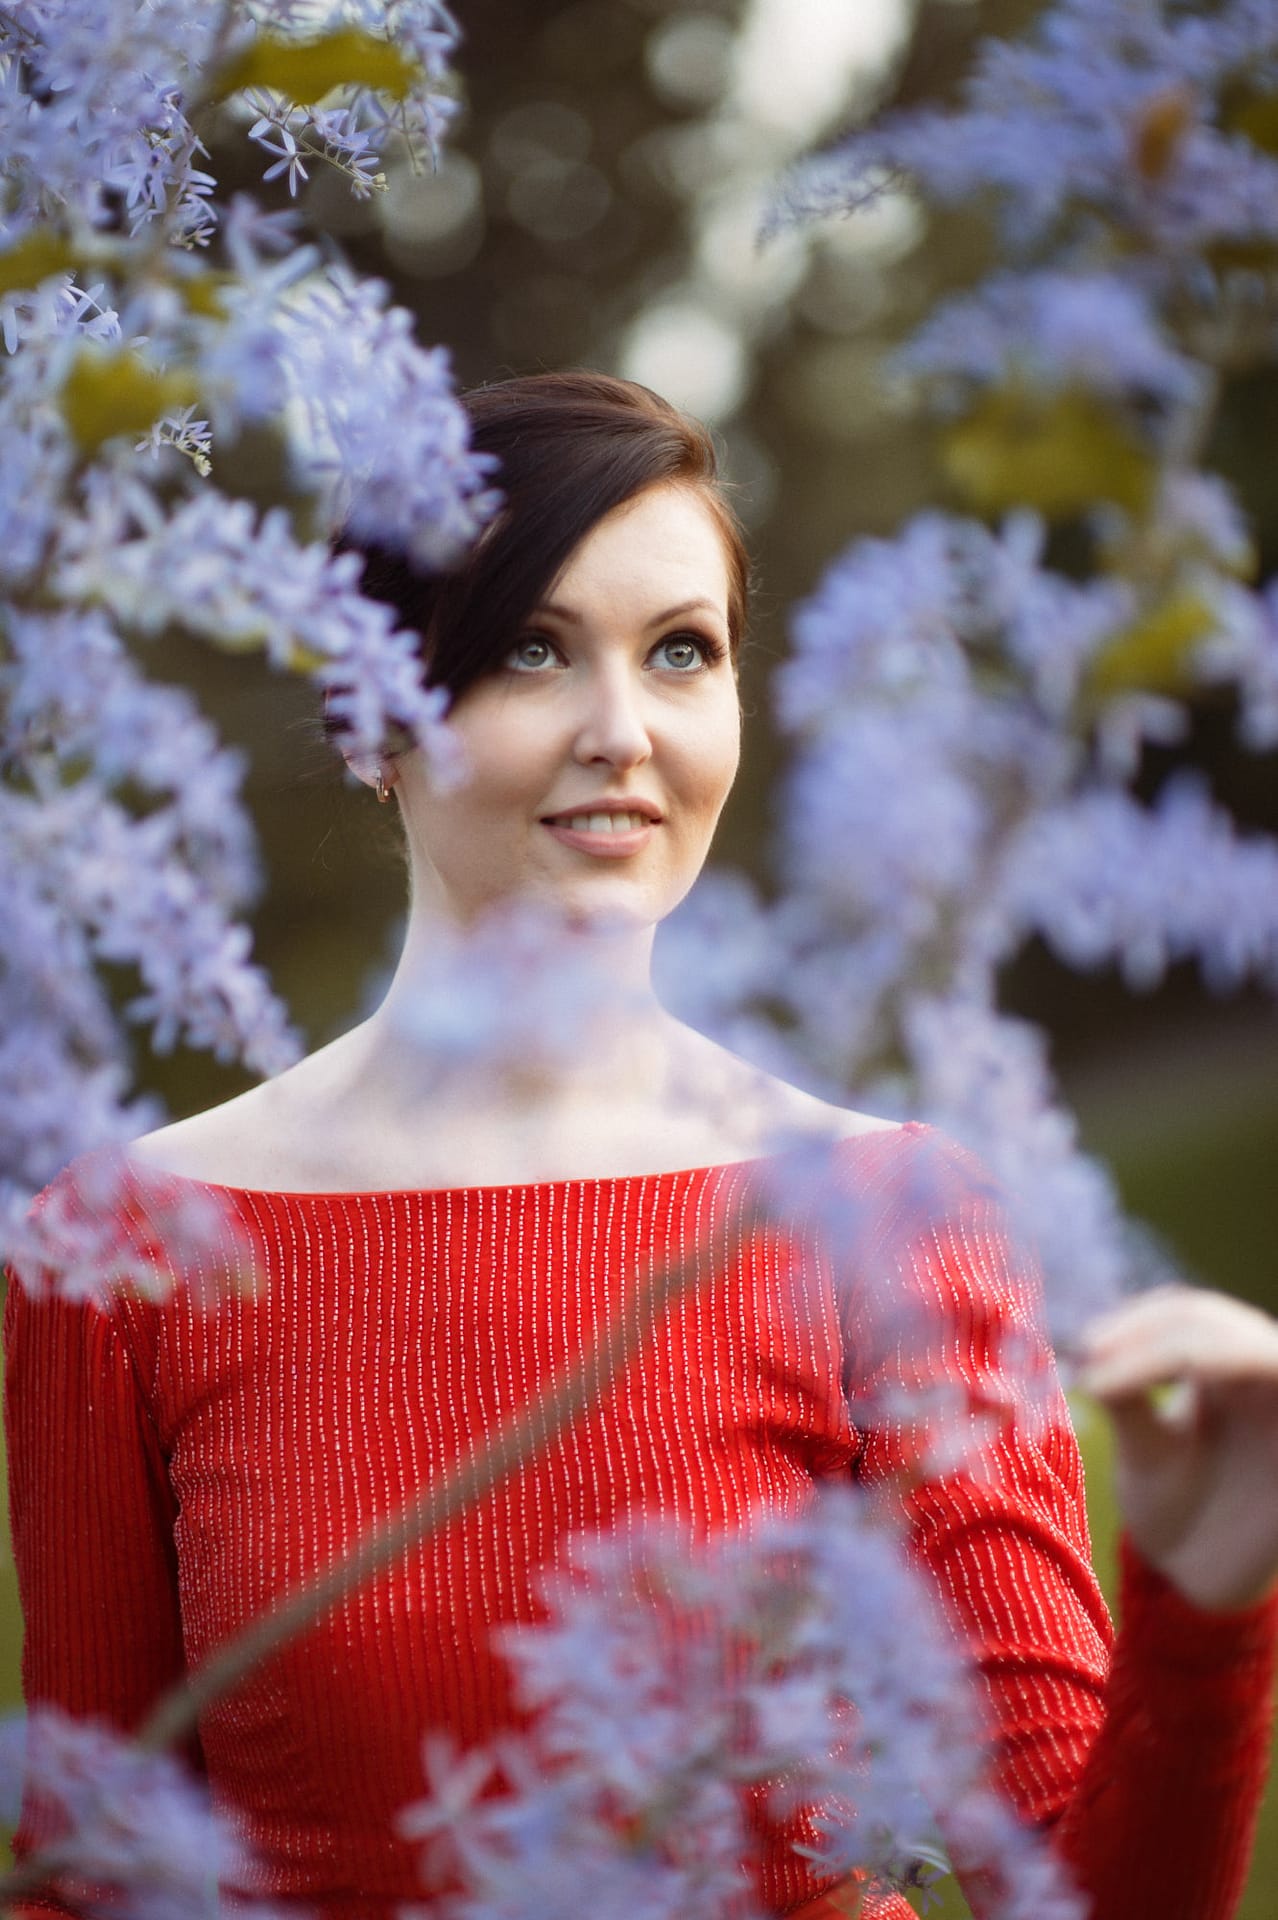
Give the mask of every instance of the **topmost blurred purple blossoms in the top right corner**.
M 1278 161 L 1232 131 L 1230 84 L 1265 88 L 1265 0 L 1055 0 L 1023 42 L 986 40 L 954 111 L 887 117 L 798 169 L 775 219 L 856 205 L 900 175 L 936 204 L 977 196 L 1015 250 L 1101 223 L 1165 261 L 1278 242 Z

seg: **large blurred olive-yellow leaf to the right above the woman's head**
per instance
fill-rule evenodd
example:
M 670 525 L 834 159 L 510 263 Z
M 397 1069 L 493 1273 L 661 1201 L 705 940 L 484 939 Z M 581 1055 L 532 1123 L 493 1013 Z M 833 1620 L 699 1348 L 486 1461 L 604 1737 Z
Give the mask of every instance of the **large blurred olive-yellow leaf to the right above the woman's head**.
M 1138 438 L 1090 394 L 994 388 L 944 434 L 940 457 L 981 513 L 1036 507 L 1048 520 L 1096 501 L 1142 513 L 1155 480 Z

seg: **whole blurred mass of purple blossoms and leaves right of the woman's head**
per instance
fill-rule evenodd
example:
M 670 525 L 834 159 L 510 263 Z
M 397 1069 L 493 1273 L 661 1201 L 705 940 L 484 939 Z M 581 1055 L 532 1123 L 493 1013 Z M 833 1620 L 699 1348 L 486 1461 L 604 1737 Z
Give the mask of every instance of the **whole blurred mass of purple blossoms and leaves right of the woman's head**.
M 1245 515 L 1199 470 L 1220 374 L 1278 346 L 1247 271 L 1278 250 L 1278 161 L 1249 119 L 1276 83 L 1266 0 L 1053 0 L 979 50 L 958 108 L 854 134 L 775 211 L 852 211 L 902 179 L 994 211 L 1017 269 L 942 303 L 898 369 L 959 486 L 1078 513 L 1092 543 L 1067 578 L 1032 513 L 921 515 L 831 566 L 779 682 L 794 764 L 762 916 L 793 1041 L 981 1152 L 1059 1332 L 1165 1263 L 1078 1152 L 1042 1035 L 1000 1018 L 998 970 L 1040 937 L 1134 989 L 1186 960 L 1215 989 L 1278 983 L 1278 845 L 1194 781 L 1130 793 L 1209 684 L 1245 747 L 1278 739 L 1274 588 L 1245 584 Z M 1061 493 L 1071 461 L 1086 480 Z

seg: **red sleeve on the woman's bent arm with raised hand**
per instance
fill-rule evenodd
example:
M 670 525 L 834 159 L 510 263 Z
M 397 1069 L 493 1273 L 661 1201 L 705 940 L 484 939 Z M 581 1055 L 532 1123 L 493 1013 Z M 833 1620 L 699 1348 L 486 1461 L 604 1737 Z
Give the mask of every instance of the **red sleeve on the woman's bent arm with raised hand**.
M 938 1152 L 923 1223 L 908 1185 L 883 1221 L 885 1284 L 871 1277 L 850 1331 L 860 1478 L 911 1486 L 913 1549 L 971 1645 L 998 1784 L 1052 1832 L 1092 1920 L 1228 1920 L 1265 1786 L 1278 1603 L 1205 1615 L 1128 1546 L 1113 1642 L 1034 1277 L 965 1156 Z M 946 1471 L 973 1413 L 982 1444 Z

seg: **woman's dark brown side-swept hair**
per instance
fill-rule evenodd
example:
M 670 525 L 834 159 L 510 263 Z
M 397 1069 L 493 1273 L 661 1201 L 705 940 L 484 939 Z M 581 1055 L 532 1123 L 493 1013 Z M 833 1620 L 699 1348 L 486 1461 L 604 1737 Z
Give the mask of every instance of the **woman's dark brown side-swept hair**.
M 718 478 L 706 428 L 647 386 L 601 372 L 541 372 L 462 394 L 470 444 L 497 459 L 497 516 L 449 574 L 359 543 L 363 591 L 422 636 L 430 685 L 457 699 L 510 649 L 533 607 L 591 528 L 651 486 L 675 482 L 706 503 L 727 559 L 727 626 L 737 653 L 750 563 Z M 355 541 L 342 541 L 357 545 Z

